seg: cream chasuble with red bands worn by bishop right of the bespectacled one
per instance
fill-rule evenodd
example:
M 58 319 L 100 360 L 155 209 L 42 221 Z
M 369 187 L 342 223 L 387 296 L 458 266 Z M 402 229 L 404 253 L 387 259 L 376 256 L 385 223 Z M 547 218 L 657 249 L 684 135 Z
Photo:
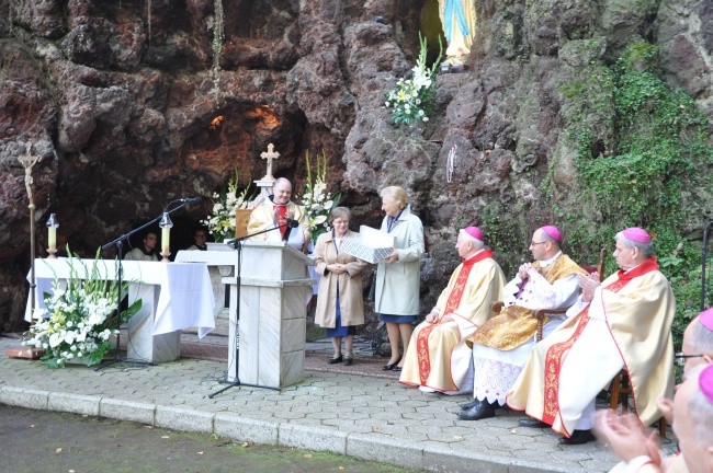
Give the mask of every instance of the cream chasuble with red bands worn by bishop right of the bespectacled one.
M 603 372 L 600 361 L 604 356 L 621 357 L 631 380 L 634 409 L 644 424 L 653 424 L 660 416 L 656 400 L 670 396 L 674 389 L 675 312 L 674 293 L 655 258 L 626 273 L 619 270 L 601 284 L 590 304 L 579 313 L 568 313 L 571 316 L 536 345 L 507 396 L 508 405 L 569 436 L 580 414 L 571 406 L 593 400 L 619 371 Z M 578 343 L 585 331 L 598 330 L 596 322 L 604 322 L 601 335 L 593 343 Z M 615 348 L 604 354 L 601 347 L 609 345 L 602 337 L 609 335 Z M 567 357 L 579 356 L 581 350 L 590 362 L 567 365 Z M 565 368 L 570 378 L 561 377 Z M 567 395 L 562 393 L 563 385 Z

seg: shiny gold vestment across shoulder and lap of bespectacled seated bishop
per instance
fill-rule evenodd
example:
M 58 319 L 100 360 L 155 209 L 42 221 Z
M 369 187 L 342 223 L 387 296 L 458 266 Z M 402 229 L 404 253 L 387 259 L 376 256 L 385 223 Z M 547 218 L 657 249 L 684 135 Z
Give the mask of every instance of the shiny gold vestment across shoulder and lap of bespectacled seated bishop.
M 577 263 L 563 254 L 557 261 L 542 267 L 539 261 L 532 263 L 547 282 L 554 284 L 558 279 L 567 278 L 574 274 L 586 275 Z M 524 281 L 522 291 L 528 290 L 529 281 Z M 542 308 L 550 309 L 550 308 Z M 483 345 L 500 350 L 511 350 L 531 339 L 537 331 L 537 320 L 533 311 L 518 305 L 503 307 L 500 313 L 487 321 L 468 338 L 468 344 Z M 547 323 L 547 320 L 543 321 Z

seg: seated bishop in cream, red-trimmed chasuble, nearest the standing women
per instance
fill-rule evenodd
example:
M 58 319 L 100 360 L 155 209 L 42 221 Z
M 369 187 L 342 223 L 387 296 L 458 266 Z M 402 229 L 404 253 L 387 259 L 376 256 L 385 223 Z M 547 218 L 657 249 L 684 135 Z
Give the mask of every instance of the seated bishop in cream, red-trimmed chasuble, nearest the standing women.
M 465 339 L 489 316 L 502 297 L 505 276 L 477 227 L 459 232 L 463 258 L 435 307 L 414 331 L 399 381 L 422 391 L 459 392 L 471 364 Z

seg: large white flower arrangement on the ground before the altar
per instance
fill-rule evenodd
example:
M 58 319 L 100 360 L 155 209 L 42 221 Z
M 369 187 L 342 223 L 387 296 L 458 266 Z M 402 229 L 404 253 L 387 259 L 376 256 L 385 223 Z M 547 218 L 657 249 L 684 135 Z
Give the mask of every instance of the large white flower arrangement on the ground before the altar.
M 99 253 L 91 268 L 84 265 L 80 278 L 77 261 L 69 255 L 69 278 L 53 284 L 53 292 L 44 295 L 46 310 L 37 310 L 39 320 L 30 327 L 29 339 L 23 344 L 42 348 L 42 361 L 52 368 L 61 368 L 68 360 L 82 359 L 87 366 L 102 360 L 114 344 L 110 336 L 118 334 L 118 327 L 142 308 L 142 300 L 118 312 L 116 299 L 118 284 L 100 276 Z M 103 272 L 104 274 L 106 272 Z M 126 293 L 129 282 L 122 282 Z

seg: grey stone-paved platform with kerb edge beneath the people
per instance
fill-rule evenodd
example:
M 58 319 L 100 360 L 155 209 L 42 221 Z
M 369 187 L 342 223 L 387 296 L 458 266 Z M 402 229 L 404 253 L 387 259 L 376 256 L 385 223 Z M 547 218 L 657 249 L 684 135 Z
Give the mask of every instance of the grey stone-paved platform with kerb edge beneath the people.
M 383 364 L 367 360 L 363 353 L 342 372 L 307 370 L 304 382 L 282 391 L 235 387 L 210 399 L 224 387 L 218 380 L 225 376 L 225 361 L 181 358 L 143 369 L 114 365 L 100 371 L 83 366 L 52 370 L 38 361 L 4 358 L 4 349 L 16 345 L 16 339 L 0 336 L 0 403 L 9 405 L 326 450 L 429 471 L 607 472 L 616 462 L 599 443 L 562 447 L 551 430 L 520 428 L 518 413 L 498 411 L 491 419 L 457 420 L 465 396 L 404 388 L 397 373 L 356 374 L 360 364 L 378 370 Z M 324 367 L 329 350 L 328 342 L 310 344 L 307 360 Z M 355 371 L 350 373 L 350 368 Z M 667 450 L 674 446 L 664 445 Z

